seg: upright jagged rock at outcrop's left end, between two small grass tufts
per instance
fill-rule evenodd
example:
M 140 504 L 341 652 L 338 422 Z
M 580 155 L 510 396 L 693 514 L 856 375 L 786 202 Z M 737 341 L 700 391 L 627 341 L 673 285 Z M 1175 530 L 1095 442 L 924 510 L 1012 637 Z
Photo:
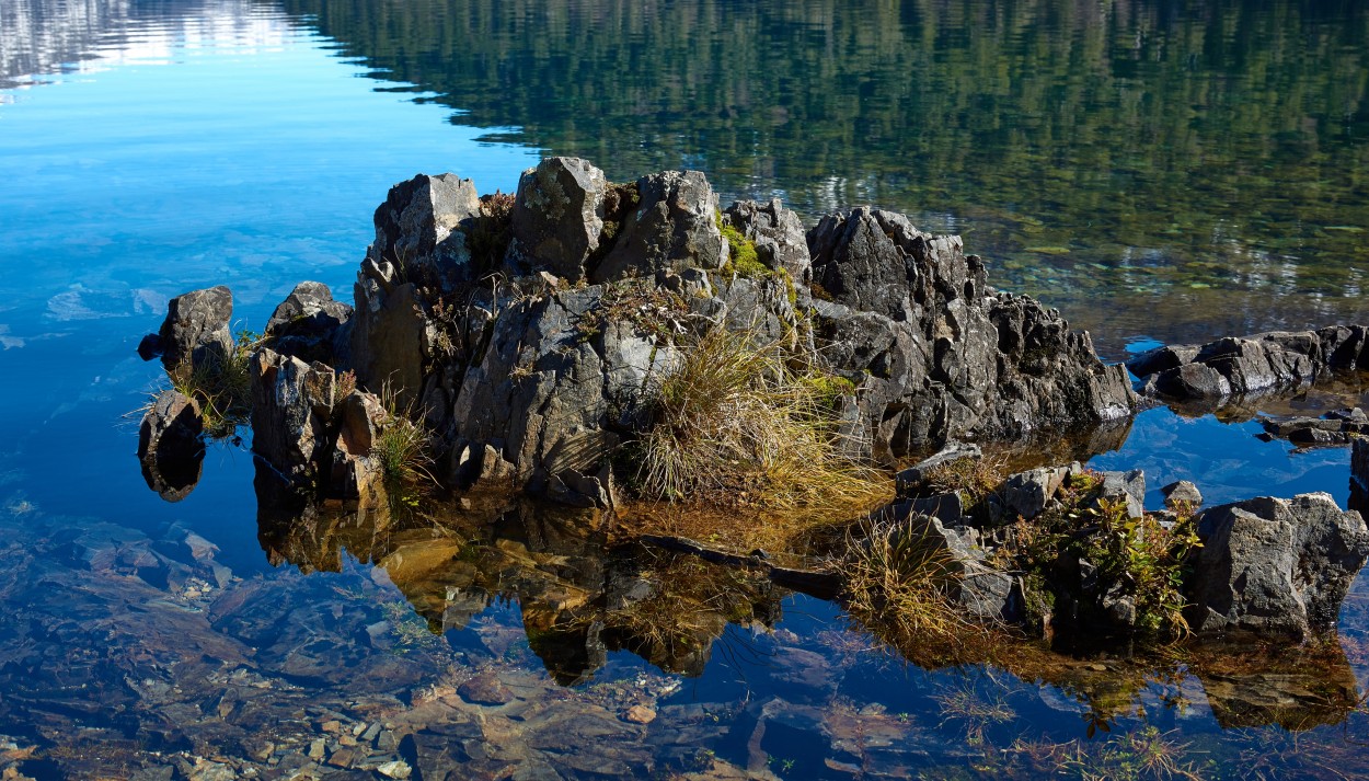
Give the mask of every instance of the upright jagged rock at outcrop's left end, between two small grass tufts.
M 251 378 L 252 451 L 293 481 L 314 474 L 330 444 L 335 374 L 263 348 L 252 356 Z

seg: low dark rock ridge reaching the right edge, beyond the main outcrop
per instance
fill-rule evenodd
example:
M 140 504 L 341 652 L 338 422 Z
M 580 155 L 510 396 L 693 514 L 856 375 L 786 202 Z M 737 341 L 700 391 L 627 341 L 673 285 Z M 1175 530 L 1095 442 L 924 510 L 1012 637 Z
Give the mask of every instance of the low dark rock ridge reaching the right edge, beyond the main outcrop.
M 1203 345 L 1143 352 L 1127 367 L 1142 392 L 1172 401 L 1217 407 L 1228 400 L 1290 392 L 1338 369 L 1366 369 L 1365 326 L 1269 332 Z

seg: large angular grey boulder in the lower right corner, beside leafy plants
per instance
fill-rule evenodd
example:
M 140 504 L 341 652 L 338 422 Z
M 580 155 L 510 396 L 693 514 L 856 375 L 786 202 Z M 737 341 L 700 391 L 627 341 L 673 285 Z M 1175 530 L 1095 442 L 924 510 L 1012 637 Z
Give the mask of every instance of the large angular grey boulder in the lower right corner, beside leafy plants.
M 1369 556 L 1369 529 L 1327 493 L 1258 497 L 1199 517 L 1188 623 L 1199 634 L 1306 637 L 1333 629 Z

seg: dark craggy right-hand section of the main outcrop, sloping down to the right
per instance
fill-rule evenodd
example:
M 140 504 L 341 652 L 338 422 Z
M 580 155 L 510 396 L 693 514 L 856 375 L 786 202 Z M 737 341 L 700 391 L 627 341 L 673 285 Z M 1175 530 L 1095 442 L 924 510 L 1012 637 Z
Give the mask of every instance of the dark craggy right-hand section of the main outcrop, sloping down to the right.
M 991 293 L 958 237 L 861 208 L 808 234 L 820 356 L 860 386 L 882 462 L 957 437 L 1013 438 L 1131 414 L 1120 366 L 1029 297 Z

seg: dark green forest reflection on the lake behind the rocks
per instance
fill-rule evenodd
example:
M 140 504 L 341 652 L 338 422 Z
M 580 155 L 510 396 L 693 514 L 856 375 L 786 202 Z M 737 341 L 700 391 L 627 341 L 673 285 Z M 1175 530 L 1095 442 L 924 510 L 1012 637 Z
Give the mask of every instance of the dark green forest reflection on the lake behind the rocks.
M 962 233 L 1106 352 L 1369 314 L 1362 3 L 283 4 L 491 141 Z

